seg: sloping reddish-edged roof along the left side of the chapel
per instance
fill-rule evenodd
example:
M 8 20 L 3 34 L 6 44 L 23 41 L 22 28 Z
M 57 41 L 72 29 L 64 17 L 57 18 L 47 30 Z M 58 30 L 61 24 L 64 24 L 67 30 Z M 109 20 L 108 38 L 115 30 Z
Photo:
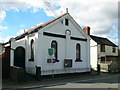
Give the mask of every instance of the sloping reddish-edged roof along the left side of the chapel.
M 65 15 L 67 15 L 67 14 L 69 14 L 69 13 L 62 14 L 62 15 L 60 15 L 60 16 L 58 16 L 58 17 L 56 17 L 56 18 L 54 18 L 54 19 L 52 19 L 52 20 L 50 20 L 50 21 L 47 21 L 47 22 L 42 23 L 42 24 L 39 24 L 39 25 L 37 25 L 37 26 L 35 26 L 35 27 L 33 27 L 33 28 L 25 31 L 23 34 L 17 36 L 15 39 L 18 40 L 18 39 L 21 39 L 21 38 L 25 37 L 27 34 L 37 32 L 37 31 L 40 30 L 41 28 L 47 26 L 48 24 L 56 21 L 57 19 L 65 16 Z

